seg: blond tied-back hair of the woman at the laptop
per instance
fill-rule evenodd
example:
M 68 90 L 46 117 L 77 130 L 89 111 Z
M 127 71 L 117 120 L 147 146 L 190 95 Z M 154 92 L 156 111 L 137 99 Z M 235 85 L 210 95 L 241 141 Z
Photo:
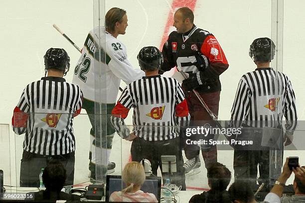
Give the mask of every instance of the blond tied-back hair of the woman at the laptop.
M 132 192 L 134 185 L 142 186 L 145 182 L 145 171 L 143 165 L 135 161 L 126 164 L 122 172 L 122 179 L 126 185 L 130 184 L 130 186 L 122 190 L 122 193 Z

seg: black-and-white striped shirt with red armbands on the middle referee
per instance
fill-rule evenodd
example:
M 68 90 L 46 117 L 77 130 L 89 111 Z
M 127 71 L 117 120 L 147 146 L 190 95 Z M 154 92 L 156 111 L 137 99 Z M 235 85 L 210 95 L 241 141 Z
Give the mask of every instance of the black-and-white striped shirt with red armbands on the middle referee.
M 173 139 L 179 126 L 189 121 L 187 103 L 179 83 L 172 78 L 143 77 L 128 85 L 112 111 L 112 123 L 120 136 L 126 138 L 130 128 L 124 120 L 134 108 L 133 131 L 148 141 Z

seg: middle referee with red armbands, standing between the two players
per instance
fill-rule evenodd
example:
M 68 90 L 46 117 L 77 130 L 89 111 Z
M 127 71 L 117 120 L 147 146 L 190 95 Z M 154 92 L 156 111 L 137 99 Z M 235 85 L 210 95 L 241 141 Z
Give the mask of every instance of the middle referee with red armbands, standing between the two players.
M 124 89 L 112 110 L 112 122 L 121 137 L 133 140 L 132 160 L 148 159 L 154 175 L 158 167 L 162 169 L 161 156 L 175 156 L 177 173 L 171 176 L 171 183 L 185 190 L 179 126 L 188 124 L 189 113 L 183 91 L 175 79 L 158 75 L 163 60 L 156 47 L 141 49 L 138 60 L 146 76 Z M 123 119 L 132 107 L 134 129 L 130 133 Z M 162 178 L 165 183 L 168 173 L 162 172 Z

